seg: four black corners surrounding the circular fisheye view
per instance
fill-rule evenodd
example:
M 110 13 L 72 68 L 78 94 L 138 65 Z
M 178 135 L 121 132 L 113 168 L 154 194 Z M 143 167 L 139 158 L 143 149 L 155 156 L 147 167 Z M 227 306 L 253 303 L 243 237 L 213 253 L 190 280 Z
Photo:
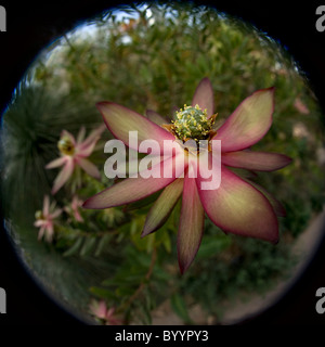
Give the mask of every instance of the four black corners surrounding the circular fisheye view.
M 118 1 L 1 1 L 6 10 L 6 33 L 0 33 L 0 110 L 3 111 L 20 78 L 36 54 L 82 18 Z M 205 2 L 253 23 L 284 44 L 307 73 L 325 110 L 325 31 L 315 28 L 316 8 L 323 1 Z M 324 23 L 325 24 L 325 23 Z M 325 243 L 310 267 L 277 305 L 244 325 L 324 324 L 315 311 L 315 292 L 325 287 Z M 10 243 L 0 232 L 0 287 L 6 291 L 8 313 L 0 324 L 81 324 L 56 306 L 23 270 Z

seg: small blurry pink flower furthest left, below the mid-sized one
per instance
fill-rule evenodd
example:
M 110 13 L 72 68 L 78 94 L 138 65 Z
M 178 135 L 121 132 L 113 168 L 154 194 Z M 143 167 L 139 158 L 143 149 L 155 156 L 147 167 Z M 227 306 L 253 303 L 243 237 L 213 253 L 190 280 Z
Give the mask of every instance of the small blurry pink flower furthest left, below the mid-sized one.
M 55 209 L 55 203 L 52 203 L 50 206 L 49 195 L 46 195 L 42 211 L 38 210 L 35 214 L 36 221 L 34 226 L 40 228 L 38 240 L 44 236 L 47 242 L 52 242 L 54 235 L 54 219 L 57 218 L 61 213 L 62 210 L 60 208 Z

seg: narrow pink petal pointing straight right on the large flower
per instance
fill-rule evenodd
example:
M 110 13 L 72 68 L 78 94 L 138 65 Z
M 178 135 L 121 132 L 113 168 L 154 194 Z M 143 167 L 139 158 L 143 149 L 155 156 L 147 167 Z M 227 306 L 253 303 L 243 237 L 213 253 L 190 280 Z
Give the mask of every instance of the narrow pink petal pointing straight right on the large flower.
M 247 170 L 273 171 L 290 163 L 291 158 L 277 153 L 240 151 L 222 154 L 222 164 Z

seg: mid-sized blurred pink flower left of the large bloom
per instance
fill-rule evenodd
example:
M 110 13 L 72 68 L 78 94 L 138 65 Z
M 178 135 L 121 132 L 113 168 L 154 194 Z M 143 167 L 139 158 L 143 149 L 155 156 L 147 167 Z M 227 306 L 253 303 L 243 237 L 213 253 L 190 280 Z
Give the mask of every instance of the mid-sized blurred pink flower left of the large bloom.
M 57 143 L 61 157 L 52 160 L 46 166 L 47 169 L 53 169 L 62 165 L 64 166 L 54 181 L 52 194 L 55 194 L 69 179 L 76 165 L 80 166 L 88 175 L 100 179 L 101 175 L 99 169 L 86 158 L 93 152 L 104 129 L 104 126 L 99 127 L 93 130 L 86 140 L 83 140 L 86 134 L 84 127 L 80 129 L 77 140 L 68 131 L 62 131 L 61 139 Z

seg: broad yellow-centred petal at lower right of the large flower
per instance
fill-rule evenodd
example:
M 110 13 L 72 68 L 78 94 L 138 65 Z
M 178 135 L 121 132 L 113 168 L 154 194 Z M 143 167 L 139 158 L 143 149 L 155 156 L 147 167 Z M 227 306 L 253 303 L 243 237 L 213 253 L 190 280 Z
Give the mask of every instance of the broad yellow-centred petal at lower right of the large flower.
M 202 204 L 213 223 L 226 232 L 273 243 L 278 239 L 277 219 L 269 201 L 257 189 L 221 166 L 217 190 L 200 190 Z

